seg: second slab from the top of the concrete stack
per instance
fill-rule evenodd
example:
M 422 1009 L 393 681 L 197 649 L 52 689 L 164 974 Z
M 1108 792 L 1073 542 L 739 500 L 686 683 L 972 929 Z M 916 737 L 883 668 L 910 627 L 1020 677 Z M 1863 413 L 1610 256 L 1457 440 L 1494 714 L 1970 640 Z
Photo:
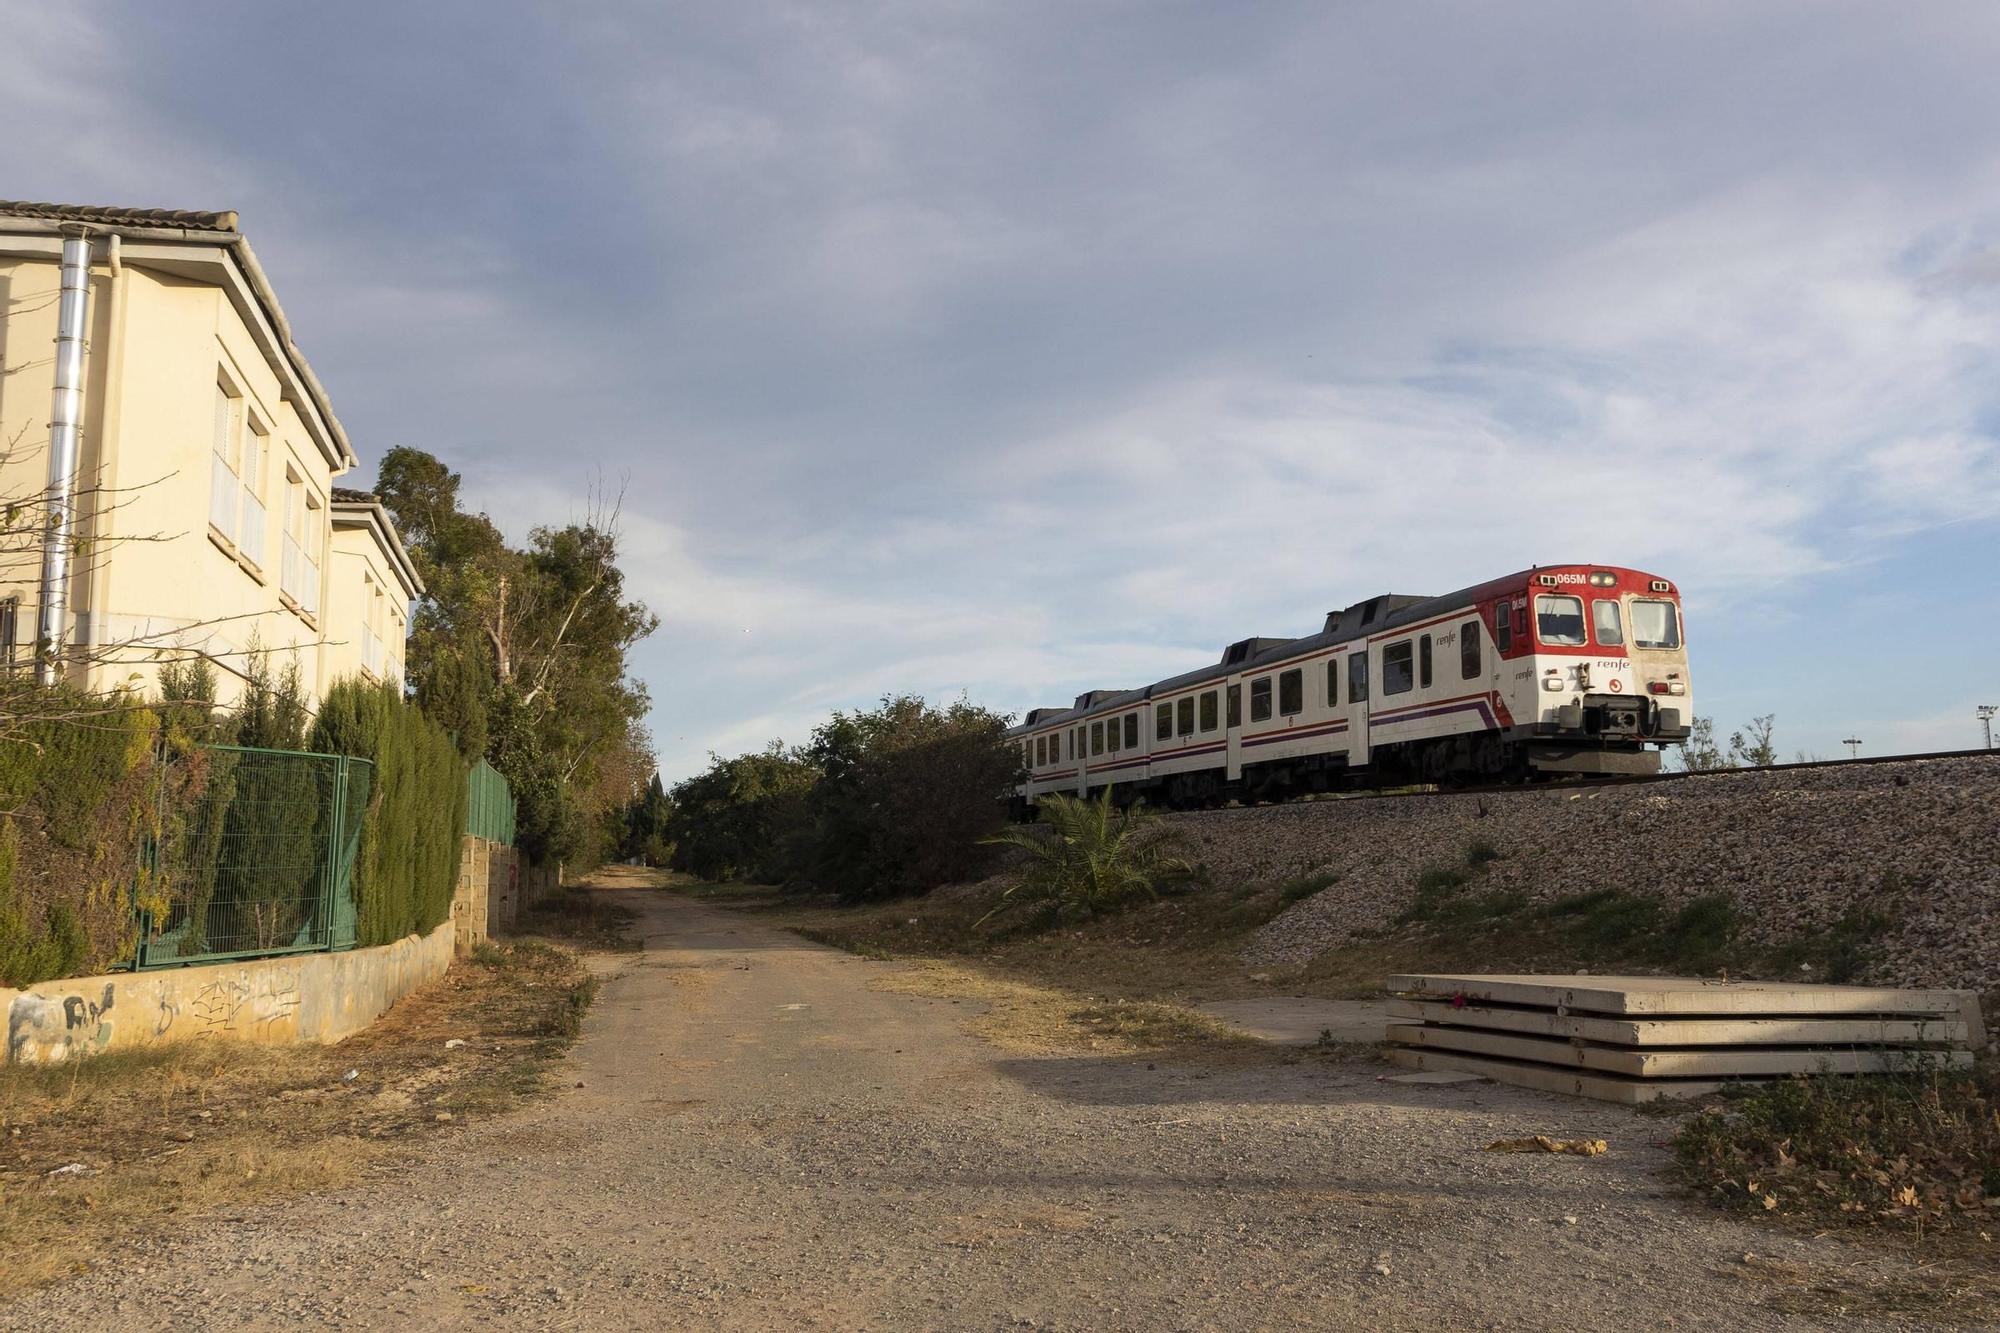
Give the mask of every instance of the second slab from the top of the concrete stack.
M 1390 1019 L 1414 1019 L 1444 1027 L 1474 1027 L 1530 1037 L 1576 1037 L 1616 1047 L 1968 1047 L 1972 1039 L 1966 1021 L 1960 1017 L 1612 1019 L 1600 1015 L 1558 1015 L 1548 1009 L 1494 1009 L 1476 1003 L 1454 1007 L 1446 1001 L 1412 999 L 1392 999 L 1388 1015 Z

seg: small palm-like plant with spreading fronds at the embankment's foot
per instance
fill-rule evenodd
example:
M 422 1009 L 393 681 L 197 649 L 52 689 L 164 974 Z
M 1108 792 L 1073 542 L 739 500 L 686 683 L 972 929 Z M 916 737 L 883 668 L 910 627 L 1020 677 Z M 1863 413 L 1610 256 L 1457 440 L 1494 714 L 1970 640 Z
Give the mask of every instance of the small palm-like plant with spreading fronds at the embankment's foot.
M 1142 803 L 1118 809 L 1110 787 L 1096 801 L 1042 797 L 1040 813 L 1042 827 L 1014 825 L 986 839 L 1028 853 L 994 913 L 1024 911 L 1042 923 L 1096 917 L 1194 875 L 1172 855 L 1172 835 L 1156 829 L 1160 817 Z

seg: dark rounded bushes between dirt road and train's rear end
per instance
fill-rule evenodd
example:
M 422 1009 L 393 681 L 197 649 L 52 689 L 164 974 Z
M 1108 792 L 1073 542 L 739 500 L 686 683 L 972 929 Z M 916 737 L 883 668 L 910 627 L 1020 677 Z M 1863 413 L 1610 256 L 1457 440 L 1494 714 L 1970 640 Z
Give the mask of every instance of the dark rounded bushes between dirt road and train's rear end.
M 714 759 L 670 793 L 672 865 L 848 901 L 924 893 L 974 875 L 1020 771 L 1008 719 L 914 695 L 834 713 L 812 741 Z

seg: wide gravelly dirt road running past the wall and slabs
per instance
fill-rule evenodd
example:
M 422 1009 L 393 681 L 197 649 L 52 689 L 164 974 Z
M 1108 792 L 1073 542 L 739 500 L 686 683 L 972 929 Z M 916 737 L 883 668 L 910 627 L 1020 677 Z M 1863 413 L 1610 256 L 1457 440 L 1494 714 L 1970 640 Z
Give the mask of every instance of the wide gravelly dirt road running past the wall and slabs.
M 1764 1329 L 1898 1267 L 1668 1199 L 1658 1119 L 1374 1065 L 1016 1059 L 966 1007 L 870 991 L 894 965 L 624 901 L 646 951 L 606 961 L 574 1087 L 340 1197 L 96 1255 L 0 1325 Z M 1526 1133 L 1612 1155 L 1480 1151 Z

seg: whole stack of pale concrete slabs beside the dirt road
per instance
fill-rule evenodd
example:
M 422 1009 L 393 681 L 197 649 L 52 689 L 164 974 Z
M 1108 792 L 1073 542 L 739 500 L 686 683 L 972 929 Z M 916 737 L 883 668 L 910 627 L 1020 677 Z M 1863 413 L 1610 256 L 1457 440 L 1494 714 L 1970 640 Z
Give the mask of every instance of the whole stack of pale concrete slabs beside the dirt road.
M 1390 977 L 1390 1059 L 1642 1103 L 1744 1079 L 1964 1067 L 1970 991 L 1688 977 Z

